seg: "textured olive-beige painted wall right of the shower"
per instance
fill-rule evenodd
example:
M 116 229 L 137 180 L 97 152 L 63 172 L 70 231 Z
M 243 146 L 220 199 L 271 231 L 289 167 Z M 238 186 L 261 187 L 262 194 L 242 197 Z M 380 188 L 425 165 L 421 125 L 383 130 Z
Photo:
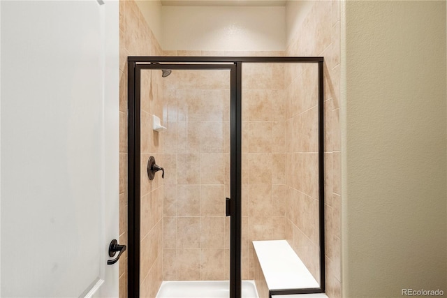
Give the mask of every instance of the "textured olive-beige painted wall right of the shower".
M 446 2 L 343 5 L 343 296 L 447 292 Z

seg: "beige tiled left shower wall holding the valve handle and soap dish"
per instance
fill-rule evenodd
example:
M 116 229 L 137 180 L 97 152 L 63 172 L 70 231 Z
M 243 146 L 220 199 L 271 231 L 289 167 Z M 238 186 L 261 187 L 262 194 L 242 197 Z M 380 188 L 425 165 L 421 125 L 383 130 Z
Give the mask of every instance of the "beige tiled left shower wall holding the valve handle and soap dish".
M 135 1 L 119 1 L 119 243 L 127 245 L 127 57 L 162 54 L 161 47 L 152 31 L 147 27 Z M 148 74 L 147 72 L 146 74 Z M 156 157 L 163 165 L 163 139 L 152 131 L 152 114 L 161 115 L 161 73 L 159 77 L 143 75 L 142 84 L 150 89 L 142 89 L 142 169 L 147 158 Z M 151 84 L 152 82 L 152 84 Z M 145 94 L 144 91 L 149 93 Z M 141 174 L 141 251 L 140 297 L 155 297 L 162 280 L 161 244 L 163 184 L 160 177 L 147 181 L 147 174 Z M 151 241 L 149 241 L 151 239 Z M 150 276 L 150 278 L 148 278 Z M 127 297 L 127 252 L 119 260 L 119 297 Z

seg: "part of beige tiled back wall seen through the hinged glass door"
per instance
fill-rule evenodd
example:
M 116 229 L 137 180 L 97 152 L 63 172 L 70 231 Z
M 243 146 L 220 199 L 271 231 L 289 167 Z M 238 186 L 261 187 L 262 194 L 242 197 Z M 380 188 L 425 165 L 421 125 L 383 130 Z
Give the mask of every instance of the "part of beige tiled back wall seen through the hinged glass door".
M 229 70 L 173 70 L 163 86 L 163 278 L 228 279 Z

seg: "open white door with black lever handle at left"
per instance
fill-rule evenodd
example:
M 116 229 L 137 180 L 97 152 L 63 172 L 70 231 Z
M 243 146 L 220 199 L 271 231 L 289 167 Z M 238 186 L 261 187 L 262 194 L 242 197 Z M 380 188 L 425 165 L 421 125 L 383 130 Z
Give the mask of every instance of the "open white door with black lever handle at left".
M 118 3 L 0 10 L 0 295 L 117 297 Z

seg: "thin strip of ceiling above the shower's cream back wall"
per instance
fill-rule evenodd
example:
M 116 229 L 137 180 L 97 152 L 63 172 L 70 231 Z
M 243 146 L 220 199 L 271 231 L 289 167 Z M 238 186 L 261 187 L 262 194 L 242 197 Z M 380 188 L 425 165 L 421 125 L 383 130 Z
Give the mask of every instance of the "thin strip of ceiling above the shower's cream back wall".
M 162 6 L 286 6 L 286 0 L 161 0 Z

